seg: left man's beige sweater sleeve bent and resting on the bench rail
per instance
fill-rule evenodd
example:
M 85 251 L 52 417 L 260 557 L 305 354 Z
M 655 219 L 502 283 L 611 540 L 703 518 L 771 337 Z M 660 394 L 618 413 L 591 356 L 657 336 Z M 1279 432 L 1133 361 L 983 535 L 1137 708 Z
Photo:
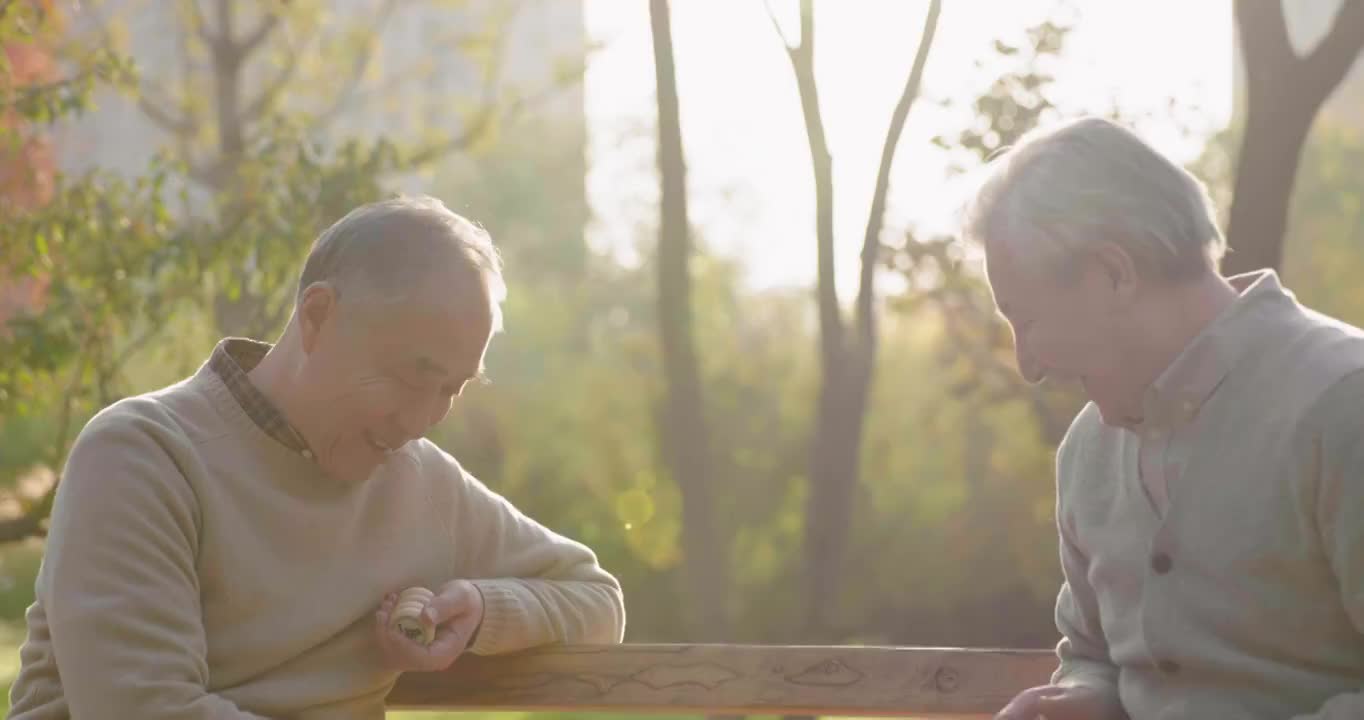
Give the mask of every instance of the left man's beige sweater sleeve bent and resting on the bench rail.
M 483 595 L 483 625 L 471 652 L 621 642 L 621 584 L 602 569 L 596 554 L 527 517 L 435 450 L 442 472 L 454 483 L 451 533 L 458 571 Z

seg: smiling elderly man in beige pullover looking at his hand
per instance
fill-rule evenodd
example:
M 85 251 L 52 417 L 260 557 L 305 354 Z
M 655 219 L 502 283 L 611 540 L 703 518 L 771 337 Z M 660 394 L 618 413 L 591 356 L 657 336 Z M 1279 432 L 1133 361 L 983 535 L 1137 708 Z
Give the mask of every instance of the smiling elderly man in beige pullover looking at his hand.
M 423 435 L 501 325 L 488 236 L 431 198 L 323 232 L 274 345 L 82 431 L 52 511 L 10 717 L 379 719 L 462 652 L 622 640 L 591 550 Z M 398 593 L 431 590 L 415 638 Z M 434 629 L 434 637 L 431 630 Z

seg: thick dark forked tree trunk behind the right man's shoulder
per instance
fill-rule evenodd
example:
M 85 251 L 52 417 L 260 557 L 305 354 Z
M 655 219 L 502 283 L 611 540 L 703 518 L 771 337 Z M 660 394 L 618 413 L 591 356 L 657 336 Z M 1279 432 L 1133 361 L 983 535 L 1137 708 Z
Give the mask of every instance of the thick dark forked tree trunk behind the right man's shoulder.
M 1245 134 L 1237 155 L 1224 274 L 1282 270 L 1284 233 L 1303 143 L 1318 110 L 1364 46 L 1364 0 L 1344 0 L 1307 56 L 1289 42 L 1279 0 L 1237 0 L 1245 65 Z

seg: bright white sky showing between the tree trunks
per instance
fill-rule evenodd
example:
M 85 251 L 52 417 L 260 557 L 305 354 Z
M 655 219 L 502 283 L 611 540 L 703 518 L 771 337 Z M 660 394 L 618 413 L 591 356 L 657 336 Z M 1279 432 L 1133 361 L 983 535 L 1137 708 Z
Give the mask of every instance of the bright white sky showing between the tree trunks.
M 672 0 L 672 33 L 692 221 L 702 241 L 745 259 L 758 288 L 814 277 L 814 194 L 795 79 L 762 0 Z M 788 34 L 795 0 L 771 0 Z M 589 64 L 589 237 L 629 255 L 655 241 L 653 55 L 648 3 L 587 0 L 604 49 Z M 1188 160 L 1232 112 L 1229 0 L 1075 0 L 1060 101 L 1102 112 L 1114 101 L 1162 150 Z M 943 228 L 959 200 L 928 140 L 960 128 L 968 104 L 1001 72 L 975 67 L 996 38 L 1018 41 L 1056 0 L 945 0 L 892 170 L 889 229 Z M 816 74 L 835 162 L 839 285 L 851 296 L 891 110 L 914 60 L 928 0 L 816 3 Z M 1177 112 L 1169 109 L 1174 100 Z M 1192 131 L 1192 136 L 1184 128 Z

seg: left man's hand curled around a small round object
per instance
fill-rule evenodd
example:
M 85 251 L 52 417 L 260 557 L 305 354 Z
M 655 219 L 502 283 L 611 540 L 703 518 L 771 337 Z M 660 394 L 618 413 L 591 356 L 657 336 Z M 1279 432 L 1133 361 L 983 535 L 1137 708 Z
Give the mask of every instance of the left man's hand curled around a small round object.
M 421 645 L 389 625 L 397 603 L 398 593 L 385 596 L 375 614 L 375 633 L 387 665 L 398 672 L 450 667 L 469 646 L 483 622 L 483 595 L 466 580 L 445 584 L 421 611 L 423 622 L 435 626 L 435 638 L 430 645 Z

